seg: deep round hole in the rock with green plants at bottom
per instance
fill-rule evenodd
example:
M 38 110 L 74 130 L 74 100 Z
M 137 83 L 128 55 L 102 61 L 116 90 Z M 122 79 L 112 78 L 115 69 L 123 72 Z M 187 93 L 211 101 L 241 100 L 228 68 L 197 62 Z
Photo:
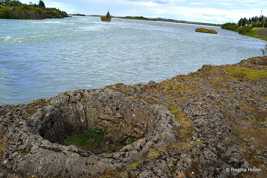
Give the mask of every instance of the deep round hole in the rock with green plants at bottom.
M 39 134 L 51 143 L 74 144 L 94 154 L 112 153 L 146 137 L 155 121 L 153 106 L 143 100 L 114 92 L 84 92 L 82 99 L 43 114 Z M 69 142 L 73 137 L 74 142 Z

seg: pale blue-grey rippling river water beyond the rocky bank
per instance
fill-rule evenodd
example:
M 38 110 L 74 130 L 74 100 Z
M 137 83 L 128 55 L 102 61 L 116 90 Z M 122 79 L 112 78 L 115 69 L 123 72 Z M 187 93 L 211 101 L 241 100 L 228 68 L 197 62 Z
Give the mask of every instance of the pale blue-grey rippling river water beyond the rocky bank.
M 214 29 L 218 34 L 195 32 Z M 220 27 L 96 17 L 0 19 L 0 105 L 115 83 L 161 82 L 260 56 L 265 41 Z

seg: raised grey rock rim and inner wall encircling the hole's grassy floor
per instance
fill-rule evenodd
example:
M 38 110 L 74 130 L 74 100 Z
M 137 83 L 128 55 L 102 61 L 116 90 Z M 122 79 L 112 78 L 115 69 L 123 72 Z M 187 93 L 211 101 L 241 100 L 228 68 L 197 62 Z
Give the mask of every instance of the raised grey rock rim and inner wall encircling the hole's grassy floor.
M 38 101 L 31 104 L 38 105 Z M 71 133 L 120 122 L 120 134 L 138 140 L 117 153 L 94 155 L 74 145 L 58 144 Z M 107 168 L 129 165 L 164 140 L 176 141 L 178 133 L 173 126 L 179 126 L 179 122 L 165 106 L 150 105 L 110 89 L 60 93 L 28 118 L 4 117 L 1 129 L 8 130 L 16 144 L 5 150 L 1 175 L 54 173 L 80 177 L 103 173 Z

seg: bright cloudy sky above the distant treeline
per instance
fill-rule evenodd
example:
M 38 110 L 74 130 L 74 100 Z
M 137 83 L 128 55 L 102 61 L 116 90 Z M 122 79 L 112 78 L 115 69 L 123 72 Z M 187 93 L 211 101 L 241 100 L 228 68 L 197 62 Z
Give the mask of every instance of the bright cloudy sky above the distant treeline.
M 39 0 L 21 0 L 39 3 Z M 162 17 L 176 20 L 216 23 L 238 22 L 240 18 L 267 16 L 266 0 L 43 0 L 46 7 L 68 14 Z

